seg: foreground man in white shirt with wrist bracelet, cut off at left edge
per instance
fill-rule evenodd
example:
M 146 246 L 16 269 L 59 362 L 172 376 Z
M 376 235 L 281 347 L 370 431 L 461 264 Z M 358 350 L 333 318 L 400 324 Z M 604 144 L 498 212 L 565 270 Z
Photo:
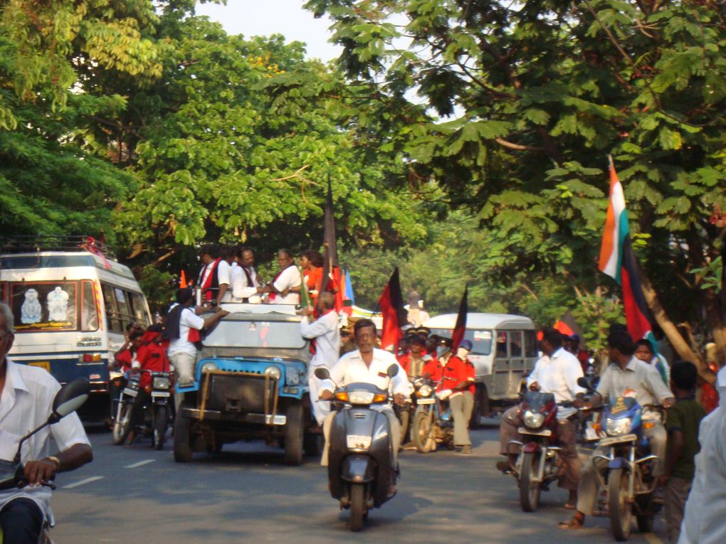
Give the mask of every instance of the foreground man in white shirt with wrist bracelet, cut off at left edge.
M 18 365 L 6 355 L 15 339 L 12 310 L 0 303 L 0 463 L 12 462 L 20 439 L 41 426 L 52 413 L 60 384 L 42 368 Z M 50 454 L 49 438 L 58 452 Z M 38 543 L 50 514 L 51 490 L 41 482 L 57 472 L 77 469 L 93 459 L 91 444 L 78 414 L 46 426 L 23 443 L 21 461 L 28 487 L 0 491 L 0 528 L 4 542 Z

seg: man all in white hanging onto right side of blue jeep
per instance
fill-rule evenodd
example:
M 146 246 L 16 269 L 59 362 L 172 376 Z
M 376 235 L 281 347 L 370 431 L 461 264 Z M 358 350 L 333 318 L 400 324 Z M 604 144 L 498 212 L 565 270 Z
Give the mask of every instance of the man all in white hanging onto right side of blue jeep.
M 303 308 L 303 319 L 300 322 L 300 331 L 303 337 L 315 339 L 315 354 L 308 364 L 308 384 L 310 398 L 319 397 L 322 380 L 314 375 L 316 368 L 324 366 L 333 368 L 340 356 L 340 328 L 338 326 L 338 313 L 335 311 L 335 295 L 330 292 L 320 293 L 317 300 L 320 317 L 310 323 L 308 316 L 313 313 L 310 308 Z M 323 424 L 327 414 L 330 413 L 330 403 L 325 400 L 312 403 L 313 415 L 319 425 Z

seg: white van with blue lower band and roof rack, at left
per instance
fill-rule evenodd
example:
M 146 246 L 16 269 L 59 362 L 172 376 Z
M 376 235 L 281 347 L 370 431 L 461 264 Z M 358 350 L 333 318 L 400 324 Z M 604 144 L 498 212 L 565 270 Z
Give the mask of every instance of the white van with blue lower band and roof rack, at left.
M 123 345 L 126 324 L 151 323 L 139 283 L 85 236 L 30 242 L 2 241 L 1 300 L 15 317 L 9 357 L 45 368 L 61 383 L 86 377 L 91 392 L 105 395 L 108 363 Z

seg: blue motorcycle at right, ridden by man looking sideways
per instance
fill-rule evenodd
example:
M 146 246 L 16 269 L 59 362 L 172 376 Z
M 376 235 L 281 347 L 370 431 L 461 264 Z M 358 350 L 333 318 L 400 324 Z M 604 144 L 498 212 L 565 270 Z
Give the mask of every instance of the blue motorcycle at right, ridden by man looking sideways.
M 586 379 L 580 380 L 582 387 L 588 387 Z M 650 532 L 661 508 L 653 502 L 661 460 L 650 453 L 643 431 L 654 423 L 643 421 L 643 408 L 660 409 L 655 405 L 643 407 L 632 397 L 617 397 L 604 405 L 601 428 L 605 436 L 597 448 L 605 449 L 605 453 L 592 457 L 600 488 L 607 490 L 610 527 L 618 541 L 630 537 L 633 515 L 638 530 Z

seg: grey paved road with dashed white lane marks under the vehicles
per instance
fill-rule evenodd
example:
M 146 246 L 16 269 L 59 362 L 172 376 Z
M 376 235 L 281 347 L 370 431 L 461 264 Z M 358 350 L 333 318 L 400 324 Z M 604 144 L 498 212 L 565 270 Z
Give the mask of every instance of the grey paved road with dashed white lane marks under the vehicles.
M 158 452 L 142 440 L 121 448 L 108 433 L 90 436 L 94 462 L 57 480 L 57 544 L 614 542 L 603 518 L 576 532 L 557 529 L 570 514 L 560 507 L 561 490 L 545 493 L 539 511 L 524 514 L 514 480 L 494 469 L 494 426 L 472 432 L 473 456 L 402 453 L 399 494 L 372 511 L 359 534 L 348 531 L 348 512 L 338 510 L 325 469 L 314 461 L 284 466 L 281 450 L 250 442 L 176 464 L 171 445 Z M 665 540 L 660 519 L 654 534 L 631 537 Z

